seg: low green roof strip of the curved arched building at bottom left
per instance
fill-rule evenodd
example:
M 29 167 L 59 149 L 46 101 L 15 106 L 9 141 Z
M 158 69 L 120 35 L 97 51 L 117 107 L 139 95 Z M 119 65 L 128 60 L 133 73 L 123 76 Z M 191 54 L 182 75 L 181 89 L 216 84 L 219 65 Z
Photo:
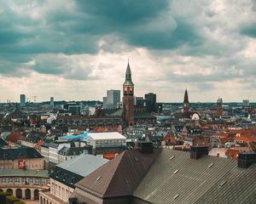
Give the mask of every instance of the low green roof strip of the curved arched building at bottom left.
M 42 177 L 49 178 L 48 170 L 6 169 L 0 171 L 0 177 Z

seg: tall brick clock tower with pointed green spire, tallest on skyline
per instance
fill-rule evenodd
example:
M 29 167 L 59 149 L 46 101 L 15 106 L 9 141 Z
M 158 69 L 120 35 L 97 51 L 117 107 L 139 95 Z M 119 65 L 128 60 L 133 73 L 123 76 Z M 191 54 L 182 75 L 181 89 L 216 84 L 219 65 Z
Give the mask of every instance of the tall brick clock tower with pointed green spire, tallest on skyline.
M 124 120 L 128 126 L 134 124 L 134 84 L 131 81 L 131 69 L 128 61 L 128 65 L 125 73 L 125 82 L 123 84 L 123 107 L 124 107 Z

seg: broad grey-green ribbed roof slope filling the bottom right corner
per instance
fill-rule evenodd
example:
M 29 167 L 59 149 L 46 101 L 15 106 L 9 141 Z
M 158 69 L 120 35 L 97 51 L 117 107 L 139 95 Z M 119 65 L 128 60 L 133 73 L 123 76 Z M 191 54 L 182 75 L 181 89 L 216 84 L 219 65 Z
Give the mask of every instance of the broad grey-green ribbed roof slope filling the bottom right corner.
M 163 150 L 133 195 L 133 203 L 255 203 L 256 164 L 242 169 L 225 158 Z

